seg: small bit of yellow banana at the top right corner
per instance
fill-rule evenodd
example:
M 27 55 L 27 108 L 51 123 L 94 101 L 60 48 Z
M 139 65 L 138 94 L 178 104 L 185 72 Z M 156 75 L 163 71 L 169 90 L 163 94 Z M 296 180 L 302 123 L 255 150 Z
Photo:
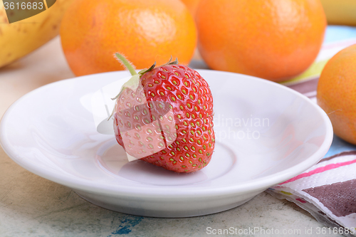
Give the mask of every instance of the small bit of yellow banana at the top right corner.
M 321 0 L 329 24 L 356 26 L 356 0 Z

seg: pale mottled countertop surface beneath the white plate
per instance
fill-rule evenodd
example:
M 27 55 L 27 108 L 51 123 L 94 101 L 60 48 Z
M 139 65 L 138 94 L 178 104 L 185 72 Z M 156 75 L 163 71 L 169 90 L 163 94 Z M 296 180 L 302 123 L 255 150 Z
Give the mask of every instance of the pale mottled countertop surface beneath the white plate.
M 204 64 L 195 62 L 196 68 Z M 22 95 L 73 78 L 54 38 L 0 68 L 0 117 Z M 28 172 L 0 148 L 0 236 L 340 236 L 289 201 L 263 192 L 219 214 L 192 218 L 130 216 L 103 209 L 71 189 Z M 223 232 L 225 229 L 225 233 Z

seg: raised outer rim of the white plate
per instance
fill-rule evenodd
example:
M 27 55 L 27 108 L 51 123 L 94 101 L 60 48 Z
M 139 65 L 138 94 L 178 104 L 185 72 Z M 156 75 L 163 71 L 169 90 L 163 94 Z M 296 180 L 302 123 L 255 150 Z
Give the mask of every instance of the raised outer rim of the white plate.
M 34 93 L 39 93 L 41 90 L 46 90 L 48 87 L 53 87 L 56 86 L 57 83 L 68 83 L 68 81 L 73 81 L 73 80 L 87 80 L 88 77 L 98 77 L 100 76 L 105 76 L 109 74 L 117 74 L 117 75 L 129 75 L 127 71 L 114 71 L 114 72 L 108 72 L 108 73 L 97 73 L 97 74 L 92 74 L 92 75 L 83 75 L 80 77 L 76 78 L 68 78 L 65 80 L 58 80 L 54 83 L 49 83 L 47 85 L 43 85 L 40 88 L 36 88 L 35 90 L 32 90 L 29 93 L 26 93 L 26 95 L 23 95 L 21 98 L 16 100 L 4 113 L 3 117 L 1 118 L 0 121 L 0 145 L 4 149 L 4 152 L 12 159 L 16 164 L 19 164 L 21 167 L 24 169 L 27 169 L 29 172 L 32 172 L 33 174 L 36 174 L 40 177 L 43 177 L 45 179 L 54 181 L 58 184 L 62 184 L 64 186 L 68 186 L 72 189 L 80 189 L 82 191 L 89 191 L 89 192 L 94 192 L 98 194 L 106 194 L 110 196 L 142 196 L 142 194 L 146 198 L 156 198 L 157 196 L 166 196 L 169 198 L 179 198 L 181 199 L 182 196 L 186 197 L 194 197 L 194 198 L 199 198 L 201 196 L 221 196 L 221 195 L 234 195 L 234 194 L 245 194 L 249 193 L 252 191 L 257 191 L 257 190 L 262 190 L 262 189 L 268 189 L 268 187 L 273 186 L 275 184 L 281 183 L 283 181 L 286 181 L 292 177 L 295 177 L 296 175 L 300 174 L 301 172 L 304 172 L 306 169 L 312 167 L 314 164 L 316 164 L 320 159 L 323 159 L 325 154 L 328 152 L 328 149 L 330 148 L 331 142 L 333 141 L 333 126 L 330 122 L 330 119 L 328 118 L 328 115 L 314 102 L 312 102 L 309 98 L 307 98 L 305 95 L 298 93 L 297 91 L 286 87 L 285 85 L 281 85 L 279 83 L 274 83 L 270 80 L 262 79 L 262 78 L 256 78 L 251 75 L 244 75 L 244 74 L 239 74 L 239 73 L 231 73 L 231 72 L 226 72 L 226 71 L 218 71 L 218 70 L 205 70 L 205 69 L 194 69 L 197 70 L 198 73 L 222 73 L 226 75 L 234 75 L 242 78 L 246 78 L 248 80 L 258 80 L 261 83 L 266 83 L 270 84 L 273 86 L 276 86 L 278 88 L 281 88 L 282 90 L 288 90 L 290 93 L 295 94 L 297 97 L 305 100 L 305 102 L 308 102 L 308 104 L 312 105 L 315 110 L 318 111 L 319 115 L 323 118 L 325 129 L 326 129 L 326 134 L 325 134 L 325 139 L 323 143 L 320 145 L 317 151 L 315 151 L 308 159 L 305 159 L 303 162 L 300 162 L 293 167 L 290 167 L 288 169 L 284 169 L 281 172 L 277 172 L 275 174 L 269 174 L 266 177 L 261 177 L 258 179 L 253 179 L 250 181 L 243 181 L 241 183 L 236 183 L 234 185 L 229 185 L 229 186 L 221 186 L 221 187 L 214 187 L 213 189 L 209 189 L 209 187 L 196 187 L 194 186 L 194 189 L 190 187 L 189 189 L 179 189 L 181 186 L 156 186 L 158 189 L 155 189 L 155 191 L 152 191 L 152 186 L 154 185 L 147 185 L 147 187 L 140 187 L 136 189 L 132 189 L 129 187 L 127 189 L 127 185 L 120 186 L 120 185 L 104 185 L 101 184 L 100 186 L 95 185 L 93 186 L 93 181 L 88 181 L 85 179 L 80 179 L 77 177 L 77 179 L 69 179 L 68 175 L 64 174 L 57 174 L 56 175 L 51 175 L 51 172 L 46 172 L 46 170 L 43 169 L 38 169 L 39 167 L 33 167 L 31 164 L 26 163 L 26 161 L 19 157 L 19 154 L 16 154 L 13 150 L 11 150 L 11 144 L 6 139 L 6 120 L 9 119 L 11 116 L 11 111 L 16 108 L 16 105 L 21 102 L 22 100 L 25 100 L 29 96 L 31 96 Z M 119 78 L 119 77 L 117 77 Z M 5 131 L 5 132 L 4 132 Z M 188 186 L 186 186 L 188 187 Z M 114 189 L 115 188 L 115 189 Z M 177 190 L 179 190 L 179 197 L 177 197 Z

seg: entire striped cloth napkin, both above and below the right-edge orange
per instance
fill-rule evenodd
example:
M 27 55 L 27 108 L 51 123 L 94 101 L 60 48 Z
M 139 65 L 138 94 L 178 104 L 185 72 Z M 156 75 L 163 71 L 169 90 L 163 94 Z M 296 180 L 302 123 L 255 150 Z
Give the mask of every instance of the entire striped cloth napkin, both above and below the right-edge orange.
M 356 43 L 356 27 L 328 26 L 315 63 L 286 85 L 316 102 L 318 77 L 325 63 L 342 48 Z M 302 174 L 267 190 L 310 212 L 330 228 L 325 234 L 356 236 L 356 146 L 334 136 L 323 159 Z

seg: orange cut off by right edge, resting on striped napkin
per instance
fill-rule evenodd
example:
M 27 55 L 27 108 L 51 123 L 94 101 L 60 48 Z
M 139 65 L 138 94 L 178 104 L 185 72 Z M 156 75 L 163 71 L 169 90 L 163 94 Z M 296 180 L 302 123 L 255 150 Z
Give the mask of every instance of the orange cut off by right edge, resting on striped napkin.
M 356 44 L 326 63 L 318 82 L 318 105 L 328 114 L 335 135 L 356 144 Z

